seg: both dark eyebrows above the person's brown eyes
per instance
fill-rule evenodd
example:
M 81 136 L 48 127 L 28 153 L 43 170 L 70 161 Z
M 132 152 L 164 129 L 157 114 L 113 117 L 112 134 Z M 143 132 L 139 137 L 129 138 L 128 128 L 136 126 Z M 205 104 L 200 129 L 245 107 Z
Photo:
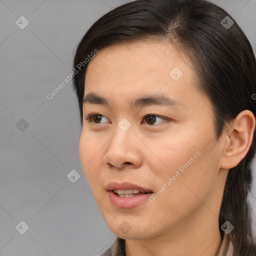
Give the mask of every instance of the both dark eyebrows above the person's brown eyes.
M 83 104 L 102 104 L 105 106 L 110 106 L 109 101 L 94 93 L 94 92 L 89 92 L 88 94 L 85 95 L 85 97 L 83 98 Z M 148 95 L 148 96 L 144 96 L 141 98 L 137 98 L 133 101 L 128 102 L 130 107 L 138 107 L 138 106 L 148 106 L 148 105 L 167 105 L 167 106 L 182 106 L 185 107 L 182 103 L 180 103 L 179 101 L 166 97 L 163 94 L 160 95 Z

